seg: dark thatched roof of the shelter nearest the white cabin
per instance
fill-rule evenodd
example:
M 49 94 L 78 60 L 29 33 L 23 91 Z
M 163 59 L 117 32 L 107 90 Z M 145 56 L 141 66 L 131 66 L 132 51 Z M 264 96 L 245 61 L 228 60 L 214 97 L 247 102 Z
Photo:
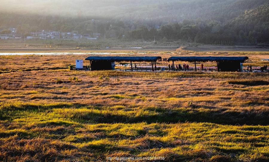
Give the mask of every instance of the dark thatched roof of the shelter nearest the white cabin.
M 91 61 L 154 61 L 161 59 L 160 56 L 89 56 L 85 60 Z

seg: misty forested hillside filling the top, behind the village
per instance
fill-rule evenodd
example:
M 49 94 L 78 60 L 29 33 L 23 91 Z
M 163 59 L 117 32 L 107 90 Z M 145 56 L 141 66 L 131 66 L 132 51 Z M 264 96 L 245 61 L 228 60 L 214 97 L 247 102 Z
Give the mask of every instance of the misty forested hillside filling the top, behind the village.
M 269 42 L 268 0 L 10 0 L 0 10 L 0 30 L 14 27 L 20 34 L 54 30 L 128 40 Z

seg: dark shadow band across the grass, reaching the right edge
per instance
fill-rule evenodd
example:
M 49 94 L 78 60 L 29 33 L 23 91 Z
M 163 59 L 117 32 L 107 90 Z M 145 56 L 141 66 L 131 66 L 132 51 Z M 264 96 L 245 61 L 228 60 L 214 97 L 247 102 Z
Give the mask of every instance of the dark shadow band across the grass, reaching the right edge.
M 96 114 L 98 118 L 94 120 L 97 123 L 178 123 L 180 122 L 210 122 L 216 124 L 248 124 L 248 125 L 268 125 L 269 111 L 248 112 L 225 112 L 225 109 L 199 111 L 196 109 L 163 109 L 163 108 L 146 108 L 145 111 L 153 112 L 155 115 L 127 116 L 125 114 Z

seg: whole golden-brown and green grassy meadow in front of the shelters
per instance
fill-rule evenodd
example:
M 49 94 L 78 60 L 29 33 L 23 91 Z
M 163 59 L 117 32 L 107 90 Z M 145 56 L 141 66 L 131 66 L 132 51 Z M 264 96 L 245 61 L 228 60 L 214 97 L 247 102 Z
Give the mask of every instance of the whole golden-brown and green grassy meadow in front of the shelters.
M 269 73 L 66 69 L 85 56 L 0 56 L 0 161 L 269 161 Z

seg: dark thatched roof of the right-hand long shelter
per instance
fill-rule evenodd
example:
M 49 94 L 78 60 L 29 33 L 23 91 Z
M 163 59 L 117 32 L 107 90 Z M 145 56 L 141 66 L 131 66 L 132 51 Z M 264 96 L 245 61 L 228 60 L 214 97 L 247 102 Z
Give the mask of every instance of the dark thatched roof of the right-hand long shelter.
M 172 56 L 168 58 L 168 61 L 240 61 L 244 62 L 248 59 L 248 57 L 231 57 L 231 56 Z

